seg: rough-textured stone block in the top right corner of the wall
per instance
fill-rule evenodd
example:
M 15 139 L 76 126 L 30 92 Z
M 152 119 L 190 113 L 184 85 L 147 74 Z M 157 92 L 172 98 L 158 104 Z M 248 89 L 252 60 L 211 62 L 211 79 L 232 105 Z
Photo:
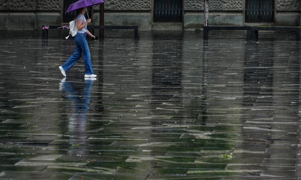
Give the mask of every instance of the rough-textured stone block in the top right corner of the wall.
M 300 11 L 301 0 L 276 0 L 277 11 Z

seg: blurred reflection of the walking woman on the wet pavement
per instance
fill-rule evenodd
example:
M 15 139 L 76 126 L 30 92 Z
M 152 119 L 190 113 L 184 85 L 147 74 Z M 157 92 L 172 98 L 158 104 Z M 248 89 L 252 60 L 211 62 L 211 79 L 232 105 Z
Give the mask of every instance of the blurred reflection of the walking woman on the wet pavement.
M 91 89 L 96 78 L 85 78 L 85 83 L 66 81 L 62 79 L 60 89 L 65 91 L 65 98 L 73 105 L 68 118 L 68 132 L 84 134 L 87 126 L 86 115 L 90 108 Z M 70 108 L 70 107 L 68 107 Z M 67 111 L 68 113 L 68 111 Z M 76 136 L 75 139 L 85 139 L 86 137 Z

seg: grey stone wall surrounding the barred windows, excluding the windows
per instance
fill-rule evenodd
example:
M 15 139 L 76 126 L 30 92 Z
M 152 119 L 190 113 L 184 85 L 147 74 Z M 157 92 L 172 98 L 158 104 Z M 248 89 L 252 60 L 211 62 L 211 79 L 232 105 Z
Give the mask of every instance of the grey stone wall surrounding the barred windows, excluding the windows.
M 60 25 L 62 3 L 63 0 L 0 0 L 0 29 Z M 183 0 L 183 23 L 153 23 L 153 0 L 107 0 L 104 20 L 105 25 L 140 25 L 142 31 L 203 29 L 203 3 Z M 209 25 L 244 26 L 244 8 L 245 0 L 209 0 Z M 275 0 L 275 9 L 275 23 L 269 26 L 300 26 L 301 0 Z M 93 7 L 93 12 L 93 23 L 99 24 L 99 5 Z

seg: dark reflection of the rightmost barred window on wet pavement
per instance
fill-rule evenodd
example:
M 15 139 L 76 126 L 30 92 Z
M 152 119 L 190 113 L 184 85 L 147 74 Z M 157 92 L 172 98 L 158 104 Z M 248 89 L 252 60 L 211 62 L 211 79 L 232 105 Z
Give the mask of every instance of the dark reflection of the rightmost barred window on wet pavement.
M 277 99 L 273 98 L 273 67 L 275 62 L 275 50 L 268 46 L 269 49 L 265 49 L 264 46 L 258 44 L 257 42 L 247 41 L 244 46 L 244 66 L 243 66 L 243 99 L 241 102 L 242 111 L 248 112 L 250 115 L 247 118 L 249 122 L 260 123 L 260 121 L 265 121 L 264 119 L 271 119 L 274 117 L 275 112 L 271 110 L 267 112 L 262 112 L 265 110 L 264 106 L 275 106 Z M 264 97 L 261 98 L 260 96 Z M 250 109 L 245 109 L 250 108 Z M 261 119 L 261 120 L 260 120 Z M 242 119 L 242 122 L 245 122 Z M 258 127 L 258 124 L 254 124 L 254 127 Z M 265 126 L 266 127 L 266 126 Z M 243 139 L 241 143 L 242 148 L 249 147 L 249 141 L 256 132 L 252 132 L 252 128 L 244 127 L 241 132 L 241 138 Z M 250 135 L 251 134 L 251 135 Z M 262 131 L 258 131 L 256 135 L 257 139 L 262 134 Z M 265 137 L 263 136 L 262 139 Z M 257 140 L 254 140 L 256 142 Z M 262 147 L 265 145 L 262 144 Z

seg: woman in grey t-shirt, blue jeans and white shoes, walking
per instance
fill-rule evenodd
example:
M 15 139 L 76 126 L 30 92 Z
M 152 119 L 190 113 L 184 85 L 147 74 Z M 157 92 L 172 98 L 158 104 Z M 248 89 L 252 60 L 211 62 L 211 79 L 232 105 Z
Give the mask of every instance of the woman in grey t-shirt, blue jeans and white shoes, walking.
M 71 67 L 84 56 L 84 64 L 85 64 L 85 77 L 96 77 L 92 68 L 91 63 L 91 55 L 88 47 L 88 43 L 86 40 L 86 35 L 88 34 L 90 37 L 95 38 L 88 30 L 87 24 L 91 22 L 91 19 L 86 20 L 84 14 L 87 11 L 87 7 L 82 7 L 76 10 L 76 22 L 77 22 L 77 34 L 74 38 L 75 41 L 75 52 L 70 58 L 65 62 L 64 65 L 60 66 L 60 70 L 62 74 L 66 77 L 66 72 L 68 72 Z

